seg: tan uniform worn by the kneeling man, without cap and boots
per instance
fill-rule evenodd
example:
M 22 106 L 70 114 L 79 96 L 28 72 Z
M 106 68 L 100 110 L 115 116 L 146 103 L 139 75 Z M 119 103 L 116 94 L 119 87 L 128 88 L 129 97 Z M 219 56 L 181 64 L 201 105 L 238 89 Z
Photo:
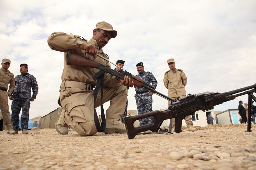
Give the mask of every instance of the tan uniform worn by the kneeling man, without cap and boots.
M 98 54 L 108 58 L 102 49 L 99 49 L 97 42 L 93 39 L 84 40 L 79 35 L 66 33 L 52 33 L 48 38 L 48 45 L 51 49 L 64 52 L 64 69 L 62 72 L 62 83 L 60 87 L 60 103 L 66 110 L 65 122 L 69 127 L 76 130 L 81 136 L 94 135 L 97 129 L 94 124 L 94 90 L 96 81 L 92 76 L 99 69 L 67 65 L 70 52 L 83 55 L 92 61 L 110 66 L 110 63 L 101 59 L 94 58 L 81 50 L 83 43 L 93 45 L 98 49 Z M 100 90 L 99 90 L 100 91 Z M 101 95 L 98 93 L 95 106 L 100 106 Z M 124 113 L 127 100 L 127 87 L 122 85 L 114 76 L 108 73 L 104 75 L 103 103 L 112 100 L 106 111 L 106 119 L 120 119 Z

